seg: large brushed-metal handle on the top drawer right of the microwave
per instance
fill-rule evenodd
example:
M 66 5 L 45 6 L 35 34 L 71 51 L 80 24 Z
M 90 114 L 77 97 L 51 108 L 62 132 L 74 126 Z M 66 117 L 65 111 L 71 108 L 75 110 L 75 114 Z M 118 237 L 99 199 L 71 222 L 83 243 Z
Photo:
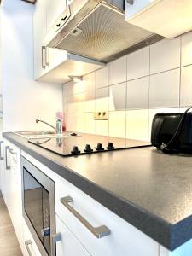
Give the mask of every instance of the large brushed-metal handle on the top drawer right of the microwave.
M 99 227 L 93 227 L 84 217 L 82 217 L 79 212 L 77 212 L 73 207 L 69 205 L 70 202 L 73 202 L 73 198 L 71 196 L 66 196 L 61 198 L 61 203 L 67 207 L 67 209 L 73 213 L 73 215 L 79 219 L 79 221 L 84 224 L 84 226 L 90 230 L 90 232 L 96 236 L 96 238 L 102 238 L 104 236 L 108 236 L 110 234 L 110 230 L 105 225 Z

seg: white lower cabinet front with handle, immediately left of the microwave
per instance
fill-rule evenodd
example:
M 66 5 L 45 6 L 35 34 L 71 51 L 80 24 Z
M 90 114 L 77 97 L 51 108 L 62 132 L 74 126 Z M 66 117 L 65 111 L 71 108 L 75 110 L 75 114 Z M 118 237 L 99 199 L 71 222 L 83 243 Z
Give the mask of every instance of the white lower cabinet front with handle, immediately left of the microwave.
M 20 172 L 20 148 L 4 139 L 4 199 L 9 210 L 9 215 L 15 228 L 15 233 L 23 247 L 22 230 L 22 195 Z

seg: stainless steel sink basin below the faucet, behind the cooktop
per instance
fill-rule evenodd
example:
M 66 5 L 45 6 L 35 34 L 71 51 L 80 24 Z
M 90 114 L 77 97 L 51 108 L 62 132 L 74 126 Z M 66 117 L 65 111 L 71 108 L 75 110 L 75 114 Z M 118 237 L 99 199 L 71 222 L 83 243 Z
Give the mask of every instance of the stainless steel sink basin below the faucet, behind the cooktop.
M 15 134 L 27 139 L 56 136 L 55 131 L 16 131 Z

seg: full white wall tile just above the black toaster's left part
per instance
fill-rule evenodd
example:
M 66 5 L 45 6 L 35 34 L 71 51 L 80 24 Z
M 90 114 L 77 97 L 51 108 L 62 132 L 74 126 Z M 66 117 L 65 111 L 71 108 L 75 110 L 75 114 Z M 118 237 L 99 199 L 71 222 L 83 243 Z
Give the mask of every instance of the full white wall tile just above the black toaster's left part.
M 179 68 L 151 76 L 149 89 L 149 108 L 178 107 L 179 82 Z

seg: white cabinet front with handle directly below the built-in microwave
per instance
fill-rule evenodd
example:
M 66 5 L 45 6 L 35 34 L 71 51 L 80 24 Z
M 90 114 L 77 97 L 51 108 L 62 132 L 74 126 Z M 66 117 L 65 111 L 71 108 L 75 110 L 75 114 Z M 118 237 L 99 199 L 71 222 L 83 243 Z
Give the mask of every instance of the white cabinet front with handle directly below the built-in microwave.
M 38 247 L 32 238 L 32 234 L 27 227 L 26 221 L 22 218 L 22 226 L 23 226 L 23 236 L 24 236 L 24 243 L 23 243 L 23 255 L 29 256 L 30 253 L 32 256 L 42 256 L 38 250 Z

